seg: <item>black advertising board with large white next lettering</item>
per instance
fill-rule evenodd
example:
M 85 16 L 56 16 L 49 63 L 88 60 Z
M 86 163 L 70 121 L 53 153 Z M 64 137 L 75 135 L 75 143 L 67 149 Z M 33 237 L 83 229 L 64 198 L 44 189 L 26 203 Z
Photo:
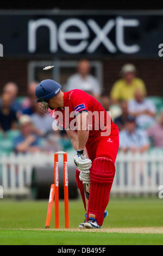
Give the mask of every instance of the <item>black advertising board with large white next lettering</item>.
M 13 11 L 0 13 L 4 57 L 158 57 L 162 14 Z

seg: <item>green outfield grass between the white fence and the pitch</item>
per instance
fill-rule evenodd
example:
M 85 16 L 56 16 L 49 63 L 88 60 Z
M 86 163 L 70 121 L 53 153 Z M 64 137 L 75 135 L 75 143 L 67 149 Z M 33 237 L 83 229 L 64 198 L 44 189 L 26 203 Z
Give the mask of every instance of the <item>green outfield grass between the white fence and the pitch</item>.
M 0 228 L 44 228 L 48 200 L 0 200 Z M 163 199 L 111 198 L 103 227 L 163 227 Z M 84 220 L 82 201 L 70 200 L 70 227 Z M 54 228 L 54 212 L 51 227 Z M 60 202 L 60 227 L 64 228 L 64 201 Z

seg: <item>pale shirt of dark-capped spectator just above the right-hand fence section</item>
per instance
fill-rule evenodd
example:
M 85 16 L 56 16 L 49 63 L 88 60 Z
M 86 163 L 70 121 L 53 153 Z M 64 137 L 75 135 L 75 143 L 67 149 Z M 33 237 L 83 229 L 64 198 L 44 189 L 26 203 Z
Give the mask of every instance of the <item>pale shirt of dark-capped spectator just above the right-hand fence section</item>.
M 146 131 L 141 129 L 135 129 L 133 133 L 129 133 L 127 130 L 120 132 L 120 148 L 142 148 L 149 144 Z

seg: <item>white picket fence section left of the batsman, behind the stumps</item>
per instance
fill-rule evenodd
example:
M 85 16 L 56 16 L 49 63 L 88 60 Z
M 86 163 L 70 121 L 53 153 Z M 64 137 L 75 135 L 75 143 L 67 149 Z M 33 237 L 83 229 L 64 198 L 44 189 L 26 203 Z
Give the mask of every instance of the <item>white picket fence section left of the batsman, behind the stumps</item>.
M 73 156 L 74 151 L 70 151 L 67 159 L 68 165 L 73 162 Z M 12 153 L 10 156 L 0 156 L 0 185 L 3 187 L 4 196 L 28 195 L 32 184 L 33 168 L 47 165 L 54 166 L 54 153 L 26 155 Z

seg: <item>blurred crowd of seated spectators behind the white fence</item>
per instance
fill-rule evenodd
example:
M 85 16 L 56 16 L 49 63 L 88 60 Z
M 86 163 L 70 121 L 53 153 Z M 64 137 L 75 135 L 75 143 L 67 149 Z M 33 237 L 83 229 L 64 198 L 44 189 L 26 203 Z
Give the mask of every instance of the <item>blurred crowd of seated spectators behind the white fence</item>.
M 120 150 L 124 153 L 163 149 L 163 99 L 148 96 L 146 84 L 137 76 L 137 69 L 139 67 L 132 63 L 122 65 L 110 93 L 104 94 L 103 85 L 91 74 L 89 61 L 80 60 L 76 74 L 67 79 L 63 89 L 82 89 L 96 97 L 106 111 L 110 111 L 120 130 Z M 55 120 L 43 113 L 35 103 L 38 83 L 33 81 L 27 85 L 26 97 L 18 93 L 21 84 L 9 81 L 3 85 L 0 154 L 72 149 L 66 132 L 53 130 Z

